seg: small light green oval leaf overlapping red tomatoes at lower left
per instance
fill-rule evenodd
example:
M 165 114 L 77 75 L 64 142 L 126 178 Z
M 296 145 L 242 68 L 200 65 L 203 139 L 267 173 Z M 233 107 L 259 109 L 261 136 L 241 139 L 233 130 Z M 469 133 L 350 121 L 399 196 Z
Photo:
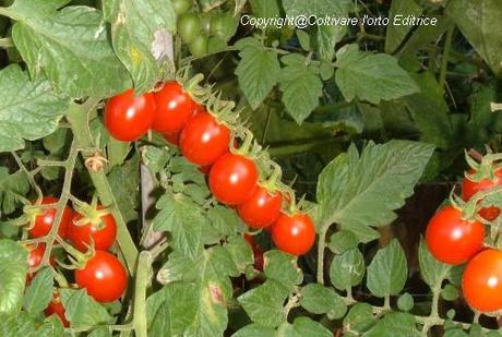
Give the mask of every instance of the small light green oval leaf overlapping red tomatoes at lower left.
M 36 317 L 47 308 L 52 299 L 52 286 L 53 276 L 50 268 L 37 272 L 23 299 L 23 306 L 31 316 Z

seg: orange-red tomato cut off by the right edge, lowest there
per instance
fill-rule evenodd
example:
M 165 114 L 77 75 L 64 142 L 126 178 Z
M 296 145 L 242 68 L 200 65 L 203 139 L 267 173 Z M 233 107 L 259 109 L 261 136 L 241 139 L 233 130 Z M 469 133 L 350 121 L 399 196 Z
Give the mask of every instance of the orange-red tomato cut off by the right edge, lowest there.
M 488 249 L 474 256 L 464 270 L 462 291 L 474 309 L 502 310 L 502 252 Z

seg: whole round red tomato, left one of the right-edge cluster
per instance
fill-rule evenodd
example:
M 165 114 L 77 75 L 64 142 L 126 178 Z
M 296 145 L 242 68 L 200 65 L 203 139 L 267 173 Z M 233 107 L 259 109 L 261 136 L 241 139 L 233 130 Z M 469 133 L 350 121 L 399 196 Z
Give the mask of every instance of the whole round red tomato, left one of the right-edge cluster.
M 462 212 L 445 206 L 429 220 L 426 241 L 432 255 L 443 263 L 458 265 L 482 249 L 485 227 L 462 218 Z

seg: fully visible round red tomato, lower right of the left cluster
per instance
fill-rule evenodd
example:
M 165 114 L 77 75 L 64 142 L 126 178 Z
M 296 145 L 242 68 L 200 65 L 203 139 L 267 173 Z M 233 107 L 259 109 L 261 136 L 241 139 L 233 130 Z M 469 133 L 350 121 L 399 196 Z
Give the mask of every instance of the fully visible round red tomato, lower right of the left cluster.
M 75 270 L 80 288 L 101 303 L 118 300 L 128 287 L 128 274 L 120 261 L 105 251 L 96 251 L 82 269 Z

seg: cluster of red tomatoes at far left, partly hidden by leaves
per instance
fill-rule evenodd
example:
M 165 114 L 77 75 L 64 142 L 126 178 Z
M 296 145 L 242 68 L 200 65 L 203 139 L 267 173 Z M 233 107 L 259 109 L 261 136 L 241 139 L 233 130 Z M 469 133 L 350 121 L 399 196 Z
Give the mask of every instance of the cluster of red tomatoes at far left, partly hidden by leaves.
M 34 214 L 34 219 L 28 229 L 31 238 L 43 238 L 50 233 L 56 220 L 56 206 L 58 198 L 45 196 L 40 208 Z M 77 288 L 86 289 L 87 293 L 98 302 L 112 302 L 118 300 L 127 289 L 128 275 L 122 263 L 111 253 L 107 252 L 116 241 L 117 225 L 111 214 L 103 206 L 89 208 L 88 214 L 74 212 L 69 206 L 64 207 L 58 234 L 68 240 L 73 248 L 87 252 L 94 245 L 93 255 L 83 266 L 74 270 L 74 280 Z M 28 266 L 36 268 L 40 265 L 46 245 L 38 243 L 28 246 Z M 50 257 L 53 265 L 53 257 Z M 33 278 L 33 273 L 27 275 L 27 281 Z M 53 298 L 45 311 L 46 315 L 57 314 L 64 326 L 69 323 L 64 316 L 64 308 L 59 294 L 55 291 Z

